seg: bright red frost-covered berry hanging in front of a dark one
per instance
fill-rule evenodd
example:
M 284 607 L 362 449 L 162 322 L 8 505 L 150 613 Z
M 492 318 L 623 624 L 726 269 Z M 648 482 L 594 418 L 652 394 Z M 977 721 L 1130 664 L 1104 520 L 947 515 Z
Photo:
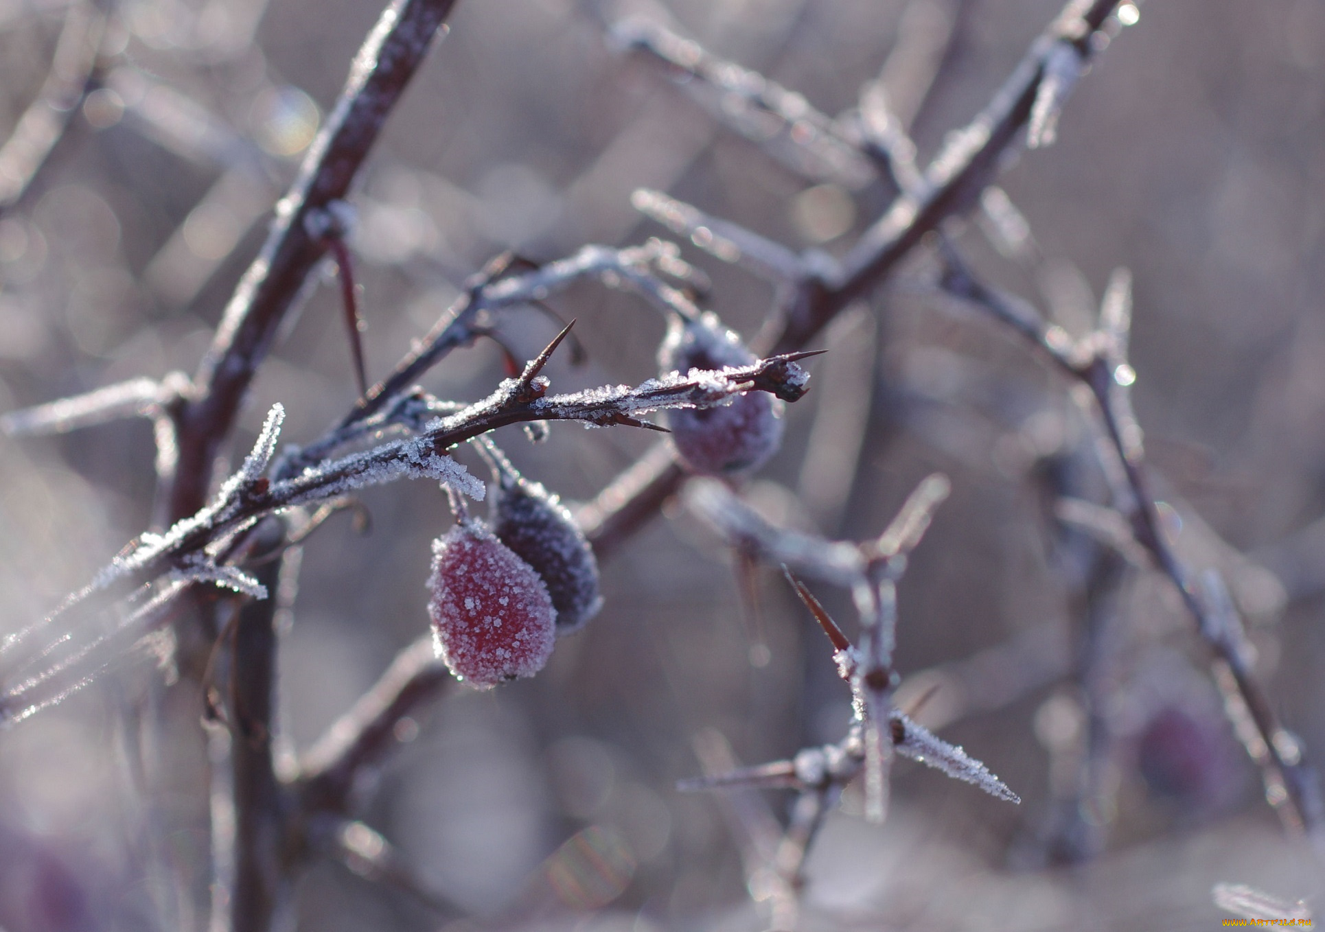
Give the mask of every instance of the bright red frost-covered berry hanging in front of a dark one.
M 437 655 L 478 688 L 533 676 L 553 653 L 556 609 L 533 568 L 481 520 L 432 543 L 428 614 Z

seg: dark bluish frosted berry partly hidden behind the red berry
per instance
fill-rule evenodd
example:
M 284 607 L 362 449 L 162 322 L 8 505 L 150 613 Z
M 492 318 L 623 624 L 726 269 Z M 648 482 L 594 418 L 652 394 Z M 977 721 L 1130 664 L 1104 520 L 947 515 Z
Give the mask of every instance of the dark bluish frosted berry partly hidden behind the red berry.
M 504 470 L 492 496 L 493 534 L 534 568 L 556 609 L 556 633 L 570 634 L 598 614 L 598 560 L 556 495 Z

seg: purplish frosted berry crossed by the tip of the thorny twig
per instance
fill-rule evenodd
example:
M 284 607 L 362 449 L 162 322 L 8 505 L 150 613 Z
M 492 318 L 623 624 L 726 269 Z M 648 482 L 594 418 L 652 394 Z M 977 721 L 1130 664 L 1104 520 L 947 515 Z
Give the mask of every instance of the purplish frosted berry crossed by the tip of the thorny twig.
M 717 315 L 676 316 L 659 348 L 662 372 L 750 365 L 757 357 Z M 681 465 L 700 475 L 730 475 L 758 469 L 782 445 L 782 402 L 767 392 L 746 392 L 730 404 L 665 412 Z

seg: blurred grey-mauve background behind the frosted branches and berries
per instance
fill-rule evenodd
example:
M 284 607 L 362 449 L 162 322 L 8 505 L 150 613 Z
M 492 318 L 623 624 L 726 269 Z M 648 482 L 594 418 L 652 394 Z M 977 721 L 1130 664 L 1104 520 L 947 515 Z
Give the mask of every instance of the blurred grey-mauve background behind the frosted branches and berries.
M 806 159 L 778 132 L 725 127 L 721 95 L 706 107 L 656 62 L 613 50 L 607 24 L 665 24 L 829 115 L 880 82 L 924 164 L 1059 9 L 461 3 L 352 199 L 370 379 L 505 249 L 542 261 L 661 236 L 631 208 L 637 187 L 829 253 L 886 205 L 885 185 L 849 159 Z M 48 81 L 68 17 L 86 13 L 0 0 L 0 139 Z M 362 0 L 113 5 L 97 90 L 0 216 L 0 409 L 196 369 L 379 13 Z M 1318 0 L 1147 3 L 1083 79 L 1057 143 L 1023 155 L 983 212 L 951 228 L 984 275 L 1073 334 L 1093 326 L 1110 273 L 1132 270 L 1133 401 L 1169 534 L 1192 565 L 1226 572 L 1256 670 L 1317 755 L 1322 114 Z M 3 171 L 0 185 L 12 187 Z M 771 287 L 685 250 L 713 278 L 712 307 L 753 336 Z M 655 375 L 664 322 L 643 302 L 583 285 L 550 303 L 579 319 L 587 351 L 579 368 L 553 361 L 554 389 Z M 327 275 L 258 376 L 232 457 L 276 401 L 294 443 L 352 404 L 339 314 Z M 556 328 L 531 310 L 507 318 L 504 336 L 533 355 Z M 922 477 L 951 478 L 900 585 L 901 703 L 924 699 L 916 718 L 1023 802 L 900 763 L 886 823 L 861 821 L 848 792 L 816 839 L 803 925 L 1206 929 L 1224 915 L 1215 883 L 1316 892 L 1306 847 L 1267 806 L 1173 589 L 1053 519 L 1060 495 L 1104 500 L 1064 380 L 939 298 L 928 246 L 816 346 L 829 352 L 810 364 L 814 388 L 788 406 L 786 446 L 746 495 L 787 527 L 863 539 Z M 476 400 L 501 377 L 498 351 L 480 344 L 427 387 Z M 652 441 L 568 425 L 537 446 L 498 436 L 530 478 L 572 500 Z M 152 458 L 146 421 L 0 438 L 0 630 L 42 617 L 148 526 Z M 281 645 L 294 749 L 425 630 L 444 496 L 396 483 L 363 502 L 367 532 L 333 519 L 303 549 Z M 700 773 L 697 741 L 761 763 L 840 739 L 849 704 L 829 645 L 772 571 L 758 579 L 759 612 L 743 609 L 727 548 L 681 504 L 611 555 L 603 588 L 602 614 L 538 678 L 453 690 L 401 729 L 368 798 L 366 822 L 453 911 L 323 863 L 302 879 L 299 928 L 763 928 L 721 798 L 674 784 Z M 849 624 L 844 593 L 816 592 Z M 208 858 L 209 777 L 171 756 L 196 722 L 156 736 L 162 772 L 146 790 L 123 752 L 122 710 L 156 675 L 107 678 L 0 733 L 0 927 L 155 928 L 163 902 L 182 928 L 205 924 L 162 879 Z M 788 800 L 767 802 L 782 814 Z M 164 830 L 144 827 L 154 819 Z

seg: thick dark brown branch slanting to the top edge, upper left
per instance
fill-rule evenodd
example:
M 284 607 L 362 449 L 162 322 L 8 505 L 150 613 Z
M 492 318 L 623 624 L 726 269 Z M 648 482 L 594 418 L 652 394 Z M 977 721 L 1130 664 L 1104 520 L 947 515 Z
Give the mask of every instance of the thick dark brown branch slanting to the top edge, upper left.
M 388 114 L 441 30 L 454 0 L 394 0 L 350 69 L 335 110 L 277 205 L 262 252 L 244 273 L 179 416 L 179 463 L 167 523 L 207 499 L 212 462 L 235 426 L 257 367 L 326 249 L 310 232 L 314 212 L 342 200 Z

